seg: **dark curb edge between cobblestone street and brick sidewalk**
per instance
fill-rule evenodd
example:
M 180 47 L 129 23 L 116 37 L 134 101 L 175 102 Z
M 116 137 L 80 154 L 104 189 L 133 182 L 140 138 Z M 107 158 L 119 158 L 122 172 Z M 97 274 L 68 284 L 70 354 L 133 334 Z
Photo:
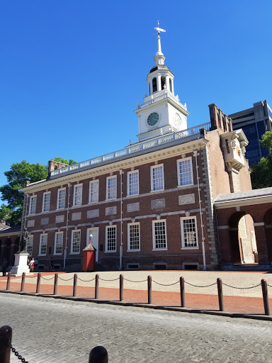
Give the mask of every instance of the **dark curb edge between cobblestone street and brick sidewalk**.
M 118 306 L 133 306 L 133 307 L 136 307 L 136 308 L 149 308 L 149 309 L 151 308 L 151 309 L 164 310 L 164 311 L 165 310 L 166 311 L 179 311 L 181 313 L 219 315 L 219 316 L 227 316 L 228 318 L 245 318 L 245 319 L 272 321 L 272 316 L 271 315 L 229 313 L 227 311 L 181 308 L 179 306 L 163 306 L 163 305 L 153 305 L 153 304 L 147 304 L 147 303 L 128 303 L 128 302 L 125 302 L 125 301 L 97 300 L 95 298 L 82 298 L 82 297 L 79 297 L 79 296 L 61 296 L 61 295 L 35 294 L 35 293 L 29 293 L 29 292 L 24 292 L 24 291 L 0 290 L 0 293 L 26 295 L 26 296 L 38 296 L 38 297 L 43 297 L 43 298 L 58 298 L 60 300 L 83 301 L 83 302 L 86 302 L 86 303 L 101 303 L 101 304 L 118 305 Z

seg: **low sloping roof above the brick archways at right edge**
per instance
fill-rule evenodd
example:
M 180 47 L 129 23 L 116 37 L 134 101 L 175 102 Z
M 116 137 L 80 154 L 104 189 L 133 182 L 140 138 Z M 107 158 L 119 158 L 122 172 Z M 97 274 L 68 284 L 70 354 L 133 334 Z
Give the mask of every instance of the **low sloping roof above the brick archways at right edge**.
M 272 197 L 272 187 L 253 189 L 249 191 L 237 191 L 236 193 L 229 193 L 229 194 L 219 194 L 215 198 L 215 204 L 256 199 L 256 198 L 265 198 L 267 196 Z

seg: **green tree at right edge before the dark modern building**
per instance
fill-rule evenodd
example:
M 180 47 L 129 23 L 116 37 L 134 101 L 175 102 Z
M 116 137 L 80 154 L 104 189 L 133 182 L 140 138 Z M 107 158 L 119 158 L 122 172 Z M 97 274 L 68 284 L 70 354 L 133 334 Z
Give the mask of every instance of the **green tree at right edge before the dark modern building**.
M 258 164 L 251 165 L 251 183 L 253 189 L 272 186 L 272 131 L 261 136 L 261 146 L 269 150 L 267 157 L 262 157 Z

